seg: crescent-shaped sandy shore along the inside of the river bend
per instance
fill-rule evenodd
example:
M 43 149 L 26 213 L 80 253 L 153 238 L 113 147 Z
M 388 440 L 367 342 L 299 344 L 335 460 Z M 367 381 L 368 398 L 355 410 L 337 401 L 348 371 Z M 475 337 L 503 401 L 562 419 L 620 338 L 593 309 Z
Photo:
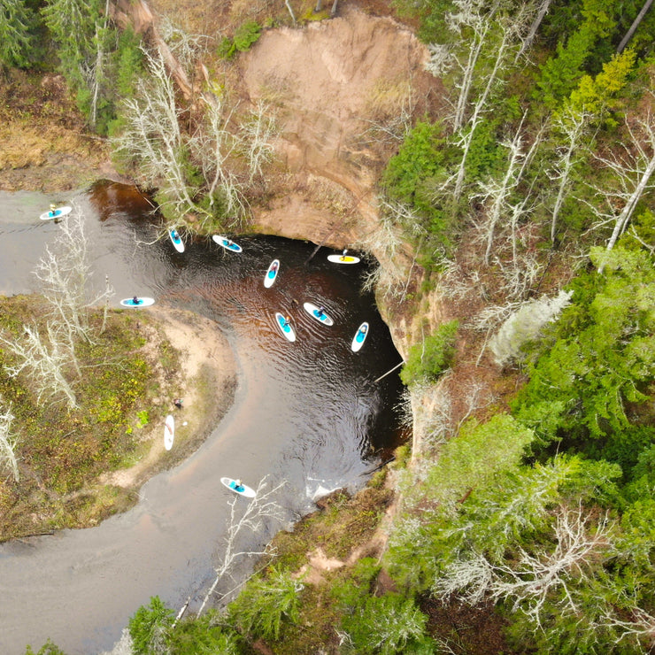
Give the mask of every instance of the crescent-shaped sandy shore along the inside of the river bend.
M 234 402 L 236 361 L 216 323 L 162 304 L 149 309 L 149 314 L 173 348 L 181 353 L 179 384 L 175 385 L 173 397 L 182 399 L 182 407 L 173 407 L 173 397 L 159 399 L 175 417 L 175 441 L 171 451 L 166 451 L 163 424 L 154 422 L 143 433 L 146 454 L 135 466 L 101 476 L 102 484 L 138 489 L 153 475 L 189 457 Z M 150 334 L 150 337 L 157 338 L 157 335 Z

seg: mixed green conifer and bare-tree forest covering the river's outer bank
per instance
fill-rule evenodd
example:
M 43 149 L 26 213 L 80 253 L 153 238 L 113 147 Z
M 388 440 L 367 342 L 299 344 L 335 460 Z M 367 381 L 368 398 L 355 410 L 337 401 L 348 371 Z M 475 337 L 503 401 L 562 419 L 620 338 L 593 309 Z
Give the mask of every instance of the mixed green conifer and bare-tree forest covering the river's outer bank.
M 119 29 L 108 7 L 4 0 L 4 74 L 56 58 L 89 128 L 167 217 L 248 229 L 274 161 L 270 108 L 236 116 L 209 88 L 190 128 L 166 52 Z M 131 648 L 650 652 L 655 10 L 397 0 L 389 13 L 416 26 L 447 94 L 439 115 L 404 117 L 378 181 L 381 232 L 393 236 L 379 247 L 392 264 L 376 293 L 391 322 L 423 326 L 402 371 L 412 443 L 362 497 L 338 497 L 297 528 L 300 546 L 276 537 L 237 597 L 183 618 L 153 597 L 130 621 Z M 239 57 L 302 15 L 289 3 L 270 14 L 225 35 L 217 56 Z M 199 37 L 165 36 L 190 70 Z M 435 304 L 443 320 L 431 328 Z M 5 463 L 10 443 L 0 438 Z M 338 512 L 366 523 L 362 541 L 383 529 L 386 547 L 307 582 L 297 572 L 312 523 L 345 556 Z M 484 617 L 469 621 L 481 634 L 453 628 L 460 615 Z

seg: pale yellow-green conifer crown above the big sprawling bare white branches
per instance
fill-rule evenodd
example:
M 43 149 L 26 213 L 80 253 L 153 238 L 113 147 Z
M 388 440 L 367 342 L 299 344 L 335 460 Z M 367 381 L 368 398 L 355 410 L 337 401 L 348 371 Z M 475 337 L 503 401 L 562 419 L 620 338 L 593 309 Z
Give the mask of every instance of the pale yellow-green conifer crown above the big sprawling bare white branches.
M 489 540 L 502 549 L 507 536 L 501 536 L 512 534 L 514 522 L 536 522 L 535 516 L 541 512 L 539 507 L 551 501 L 551 492 L 547 490 L 549 480 L 553 476 L 561 477 L 559 469 L 563 465 L 554 472 L 539 469 L 518 478 L 520 460 L 533 440 L 532 431 L 507 414 L 497 414 L 482 425 L 467 422 L 459 435 L 443 444 L 439 458 L 427 471 L 425 482 L 417 486 L 412 481 L 412 489 L 406 489 L 405 513 L 397 520 L 389 538 L 385 559 L 389 572 L 400 582 L 425 590 L 436 570 L 466 543 L 469 530 L 479 528 L 482 542 Z M 532 497 L 534 489 L 530 488 L 538 484 L 546 490 Z M 522 495 L 518 492 L 520 485 L 527 489 Z M 524 498 L 525 512 L 533 512 L 533 518 L 528 519 L 519 512 L 518 501 L 512 512 L 503 509 L 517 495 Z M 476 508 L 484 509 L 487 503 L 486 522 L 476 528 L 472 515 L 478 512 Z M 421 510 L 417 515 L 413 507 L 432 509 L 427 514 Z M 423 520 L 418 520 L 421 514 Z M 501 516 L 502 519 L 498 518 Z M 489 532 L 493 534 L 492 539 Z

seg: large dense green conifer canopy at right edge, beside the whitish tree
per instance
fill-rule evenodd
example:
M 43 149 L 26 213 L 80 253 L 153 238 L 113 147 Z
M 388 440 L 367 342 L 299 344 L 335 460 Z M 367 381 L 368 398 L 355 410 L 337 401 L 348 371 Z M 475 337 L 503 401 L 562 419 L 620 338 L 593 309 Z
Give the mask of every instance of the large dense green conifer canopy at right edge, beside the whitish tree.
M 610 458 L 628 473 L 655 435 L 650 425 L 637 429 L 635 410 L 628 411 L 651 399 L 655 380 L 655 271 L 643 250 L 592 249 L 591 257 L 606 259 L 605 276 L 580 276 L 513 409 L 543 416 L 538 433 Z M 543 412 L 544 396 L 556 411 Z

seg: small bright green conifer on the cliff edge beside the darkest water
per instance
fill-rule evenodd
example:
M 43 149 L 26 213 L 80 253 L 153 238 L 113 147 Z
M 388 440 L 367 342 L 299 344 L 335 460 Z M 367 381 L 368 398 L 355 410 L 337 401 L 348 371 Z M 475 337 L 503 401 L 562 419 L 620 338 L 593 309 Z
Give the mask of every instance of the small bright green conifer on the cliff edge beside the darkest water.
M 421 380 L 435 380 L 451 366 L 455 355 L 455 337 L 459 321 L 442 323 L 434 335 L 412 346 L 400 379 L 407 385 Z

